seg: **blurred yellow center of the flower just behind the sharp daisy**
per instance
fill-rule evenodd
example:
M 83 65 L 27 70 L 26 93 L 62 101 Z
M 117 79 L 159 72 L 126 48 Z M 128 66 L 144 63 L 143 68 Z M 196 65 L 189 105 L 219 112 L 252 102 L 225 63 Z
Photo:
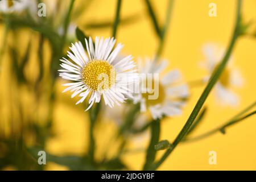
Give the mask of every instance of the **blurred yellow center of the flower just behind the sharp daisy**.
M 142 93 L 142 97 L 146 99 L 147 106 L 154 106 L 156 104 L 162 104 L 166 99 L 166 92 L 164 90 L 164 86 L 162 84 L 158 84 L 158 87 L 155 86 L 155 80 L 152 80 L 152 86 L 148 84 L 148 79 L 146 81 L 147 92 Z M 158 97 L 156 97 L 158 96 Z M 152 98 L 150 98 L 152 97 Z M 154 99 L 153 99 L 154 98 Z

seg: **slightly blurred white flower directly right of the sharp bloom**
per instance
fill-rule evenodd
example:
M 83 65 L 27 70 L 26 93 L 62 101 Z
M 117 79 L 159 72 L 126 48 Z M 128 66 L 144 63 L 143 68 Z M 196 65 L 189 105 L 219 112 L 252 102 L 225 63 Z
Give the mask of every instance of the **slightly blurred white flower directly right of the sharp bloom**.
M 149 110 L 154 119 L 180 115 L 185 98 L 189 95 L 188 86 L 181 81 L 179 70 L 162 74 L 166 66 L 165 60 L 159 64 L 150 59 L 138 60 L 141 93 L 134 96 L 134 104 L 140 103 L 141 111 Z

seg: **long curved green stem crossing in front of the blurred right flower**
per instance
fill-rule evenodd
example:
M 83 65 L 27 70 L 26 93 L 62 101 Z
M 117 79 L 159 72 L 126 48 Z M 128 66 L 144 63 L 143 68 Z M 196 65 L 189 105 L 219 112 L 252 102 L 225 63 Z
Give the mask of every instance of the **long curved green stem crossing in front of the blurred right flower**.
M 195 121 L 197 115 L 199 114 L 201 108 L 203 107 L 205 100 L 207 100 L 207 97 L 208 97 L 210 91 L 212 90 L 212 88 L 216 84 L 216 82 L 218 81 L 218 78 L 220 77 L 222 71 L 224 70 L 226 64 L 228 63 L 230 54 L 234 48 L 236 40 L 237 40 L 238 36 L 240 36 L 239 29 L 240 29 L 240 23 L 241 23 L 241 6 L 242 6 L 242 0 L 237 0 L 236 27 L 234 28 L 233 36 L 230 41 L 228 51 L 226 51 L 226 54 L 221 61 L 221 64 L 218 66 L 217 70 L 215 72 L 213 72 L 212 77 L 210 77 L 208 85 L 206 86 L 206 88 L 204 89 L 204 92 L 201 94 L 199 100 L 197 101 L 196 106 L 194 107 L 191 115 L 189 115 L 187 122 L 185 123 L 183 129 L 180 131 L 179 135 L 174 140 L 174 143 L 173 143 L 174 146 L 172 148 L 168 149 L 164 153 L 162 158 L 160 158 L 160 160 L 158 162 L 156 162 L 155 164 L 153 164 L 151 166 L 151 168 L 150 168 L 151 170 L 157 169 L 164 162 L 164 160 L 166 160 L 168 158 L 168 156 L 171 154 L 171 152 L 174 151 L 176 146 L 181 142 L 183 137 L 187 134 L 188 130 L 190 129 L 190 127 L 192 126 L 193 122 Z

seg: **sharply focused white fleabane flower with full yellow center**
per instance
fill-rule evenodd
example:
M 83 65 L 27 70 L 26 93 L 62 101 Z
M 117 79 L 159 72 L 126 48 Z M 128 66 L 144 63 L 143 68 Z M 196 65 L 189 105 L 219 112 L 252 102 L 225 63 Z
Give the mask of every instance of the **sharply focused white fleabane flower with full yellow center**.
M 105 104 L 113 107 L 114 104 L 125 102 L 127 97 L 132 97 L 133 90 L 129 85 L 138 81 L 138 73 L 135 73 L 135 63 L 133 57 L 126 56 L 118 59 L 118 53 L 123 45 L 115 45 L 114 38 L 98 38 L 95 44 L 92 38 L 89 42 L 85 39 L 86 51 L 81 42 L 72 44 L 72 52 L 68 51 L 68 57 L 71 61 L 61 59 L 60 66 L 64 69 L 59 70 L 60 76 L 70 80 L 64 86 L 68 88 L 63 92 L 71 90 L 72 98 L 79 95 L 81 99 L 76 103 L 84 102 L 89 97 L 90 109 L 94 102 L 104 99 Z

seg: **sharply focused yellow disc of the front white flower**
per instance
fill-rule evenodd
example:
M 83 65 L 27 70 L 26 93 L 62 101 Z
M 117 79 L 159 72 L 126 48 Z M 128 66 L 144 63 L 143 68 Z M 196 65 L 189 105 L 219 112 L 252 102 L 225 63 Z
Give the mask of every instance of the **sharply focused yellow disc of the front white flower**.
M 115 83 L 115 69 L 108 61 L 90 61 L 82 69 L 82 80 L 92 90 L 105 90 Z

